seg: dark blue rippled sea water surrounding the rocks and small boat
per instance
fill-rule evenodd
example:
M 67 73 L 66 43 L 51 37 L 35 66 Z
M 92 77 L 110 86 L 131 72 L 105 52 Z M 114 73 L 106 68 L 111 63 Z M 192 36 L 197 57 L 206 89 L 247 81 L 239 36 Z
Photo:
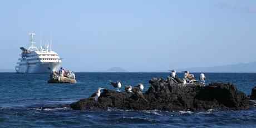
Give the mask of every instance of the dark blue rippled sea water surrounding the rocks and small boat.
M 109 80 L 124 85 L 143 83 L 169 73 L 76 73 L 77 84 L 47 83 L 48 74 L 0 73 L 0 127 L 255 127 L 256 108 L 244 111 L 72 110 L 57 107 L 86 98 L 97 87 L 114 90 Z M 199 73 L 194 73 L 199 77 Z M 183 74 L 178 73 L 178 77 Z M 250 94 L 256 73 L 205 73 L 206 83 L 232 82 Z

